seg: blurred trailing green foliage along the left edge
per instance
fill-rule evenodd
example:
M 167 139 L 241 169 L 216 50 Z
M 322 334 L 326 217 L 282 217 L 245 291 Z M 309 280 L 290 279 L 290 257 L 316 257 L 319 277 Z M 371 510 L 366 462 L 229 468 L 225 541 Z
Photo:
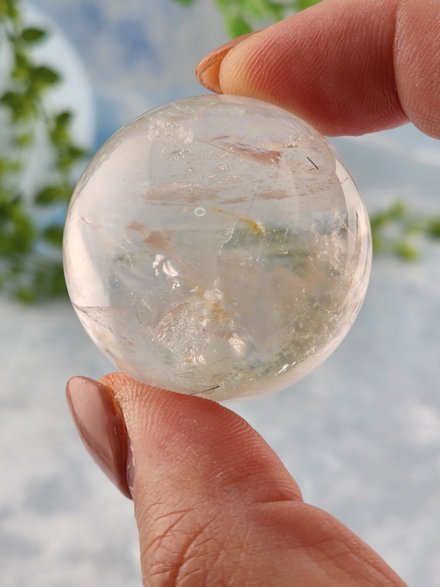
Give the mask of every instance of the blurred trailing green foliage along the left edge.
M 1 50 L 12 59 L 9 79 L 2 80 L 8 89 L 0 96 L 0 113 L 9 127 L 9 144 L 2 144 L 0 156 L 0 289 L 25 303 L 66 294 L 63 225 L 40 226 L 36 217 L 63 217 L 73 192 L 73 167 L 86 156 L 72 139 L 72 113 L 53 113 L 45 107 L 46 93 L 61 76 L 36 64 L 32 48 L 48 36 L 48 31 L 24 25 L 19 0 L 0 0 Z M 19 186 L 33 150 L 41 149 L 42 134 L 50 149 L 51 181 L 29 198 Z

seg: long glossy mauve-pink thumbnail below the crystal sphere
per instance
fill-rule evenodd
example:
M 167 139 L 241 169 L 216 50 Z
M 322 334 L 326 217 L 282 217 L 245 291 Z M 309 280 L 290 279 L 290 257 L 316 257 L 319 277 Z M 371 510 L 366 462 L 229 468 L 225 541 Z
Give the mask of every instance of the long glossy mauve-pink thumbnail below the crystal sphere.
M 93 379 L 72 377 L 66 385 L 66 397 L 90 456 L 120 492 L 131 499 L 133 456 L 124 417 L 113 394 Z

